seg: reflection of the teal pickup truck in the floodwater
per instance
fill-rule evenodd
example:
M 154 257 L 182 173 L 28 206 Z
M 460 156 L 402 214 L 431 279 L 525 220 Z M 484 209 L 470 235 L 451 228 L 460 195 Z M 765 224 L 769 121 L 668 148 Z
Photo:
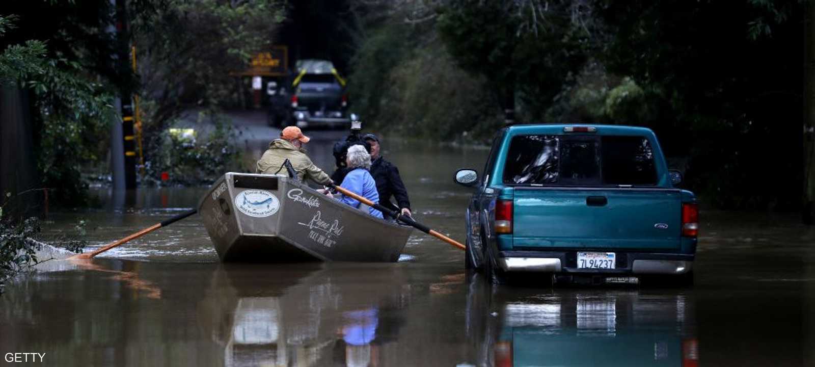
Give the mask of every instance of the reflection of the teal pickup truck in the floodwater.
M 644 289 L 501 292 L 488 301 L 485 329 L 473 330 L 483 336 L 474 353 L 477 365 L 698 365 L 689 295 Z

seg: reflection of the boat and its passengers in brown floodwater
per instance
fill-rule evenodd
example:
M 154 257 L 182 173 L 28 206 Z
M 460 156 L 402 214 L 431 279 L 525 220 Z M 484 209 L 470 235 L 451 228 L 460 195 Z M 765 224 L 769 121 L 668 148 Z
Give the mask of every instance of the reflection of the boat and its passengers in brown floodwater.
M 263 271 L 274 282 L 258 281 L 259 271 L 218 267 L 199 303 L 199 320 L 222 347 L 225 365 L 377 365 L 381 345 L 398 338 L 401 317 L 380 312 L 406 306 L 399 303 L 403 288 L 394 286 L 404 281 L 401 267 Z

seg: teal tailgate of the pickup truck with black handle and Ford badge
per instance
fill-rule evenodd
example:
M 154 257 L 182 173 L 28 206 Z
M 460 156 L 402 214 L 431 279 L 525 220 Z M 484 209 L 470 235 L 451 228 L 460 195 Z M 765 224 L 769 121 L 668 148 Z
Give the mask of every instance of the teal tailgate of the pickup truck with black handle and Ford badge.
M 677 189 L 515 188 L 513 248 L 672 252 L 681 211 Z

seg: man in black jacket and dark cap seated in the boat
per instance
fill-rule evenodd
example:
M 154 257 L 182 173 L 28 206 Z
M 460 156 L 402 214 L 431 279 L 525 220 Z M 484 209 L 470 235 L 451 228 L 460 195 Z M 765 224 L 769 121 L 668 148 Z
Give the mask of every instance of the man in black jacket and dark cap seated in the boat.
M 399 176 L 399 168 L 396 168 L 390 161 L 385 161 L 380 155 L 379 138 L 377 135 L 366 134 L 363 140 L 371 144 L 371 175 L 377 181 L 377 192 L 379 192 L 379 204 L 390 210 L 401 212 L 403 215 L 411 216 L 410 200 L 407 198 L 407 190 Z M 396 199 L 396 204 L 390 201 L 390 197 Z

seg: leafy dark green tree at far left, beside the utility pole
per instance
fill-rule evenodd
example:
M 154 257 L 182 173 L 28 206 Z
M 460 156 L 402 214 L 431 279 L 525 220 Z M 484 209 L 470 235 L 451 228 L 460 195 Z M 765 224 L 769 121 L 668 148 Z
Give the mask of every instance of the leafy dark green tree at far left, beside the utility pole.
M 31 9 L 20 9 L 25 16 L 0 17 L 0 42 L 7 47 L 0 55 L 0 79 L 5 86 L 12 86 L 23 95 L 15 100 L 16 106 L 30 117 L 23 121 L 4 121 L 3 126 L 16 125 L 25 129 L 26 136 L 14 139 L 31 140 L 32 145 L 22 145 L 16 151 L 3 151 L 2 164 L 36 164 L 39 172 L 37 188 L 51 189 L 52 201 L 57 204 L 77 205 L 85 199 L 86 183 L 81 179 L 81 166 L 87 161 L 98 161 L 104 152 L 99 146 L 99 135 L 112 118 L 112 100 L 108 89 L 94 80 L 90 70 L 104 69 L 105 64 L 69 59 L 80 54 L 93 54 L 90 47 L 102 47 L 89 40 L 75 41 L 75 34 L 66 34 L 59 28 L 62 20 L 46 24 L 43 28 L 58 27 L 56 35 L 45 40 L 22 39 L 19 44 L 10 40 L 20 39 L 28 28 L 20 28 L 18 22 L 31 27 Z M 64 16 L 71 19 L 73 12 Z M 46 15 L 47 16 L 47 15 Z M 27 20 L 26 23 L 24 20 Z M 77 20 L 78 22 L 79 20 Z M 84 30 L 83 30 L 84 32 Z M 7 37 L 7 35 L 9 37 Z M 48 42 L 48 43 L 46 43 Z M 72 43 L 73 42 L 73 43 Z M 47 44 L 59 44 L 50 48 Z M 96 46 L 93 46 L 96 45 Z M 113 73 L 106 69 L 106 73 Z M 4 91 L 7 94 L 9 91 Z M 15 142 L 19 143 L 19 142 Z M 34 160 L 26 159 L 32 156 Z M 31 167 L 18 167 L 25 170 Z M 17 192 L 33 187 L 16 188 Z M 36 200 L 34 200 L 36 201 Z

